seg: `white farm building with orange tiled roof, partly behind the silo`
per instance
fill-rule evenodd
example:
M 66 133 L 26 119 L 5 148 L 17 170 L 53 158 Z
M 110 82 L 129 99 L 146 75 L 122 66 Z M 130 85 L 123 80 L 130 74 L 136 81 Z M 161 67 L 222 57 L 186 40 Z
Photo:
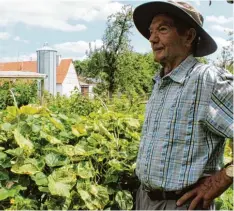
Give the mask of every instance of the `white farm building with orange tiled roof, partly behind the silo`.
M 81 92 L 72 59 L 61 59 L 56 67 L 56 93 L 69 96 L 75 87 Z M 38 72 L 37 61 L 6 62 L 0 63 L 0 71 L 29 71 Z M 42 73 L 42 72 L 41 72 Z M 48 90 L 48 89 L 47 89 Z M 54 94 L 54 93 L 52 93 Z

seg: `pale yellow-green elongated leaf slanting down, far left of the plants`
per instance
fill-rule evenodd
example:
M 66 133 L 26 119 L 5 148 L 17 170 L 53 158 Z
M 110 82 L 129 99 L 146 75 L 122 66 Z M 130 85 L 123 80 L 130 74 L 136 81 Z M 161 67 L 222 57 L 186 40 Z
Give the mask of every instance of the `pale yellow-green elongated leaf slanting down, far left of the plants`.
M 28 152 L 28 154 L 31 154 L 33 152 L 33 143 L 21 135 L 17 128 L 13 131 L 13 134 L 19 147 Z

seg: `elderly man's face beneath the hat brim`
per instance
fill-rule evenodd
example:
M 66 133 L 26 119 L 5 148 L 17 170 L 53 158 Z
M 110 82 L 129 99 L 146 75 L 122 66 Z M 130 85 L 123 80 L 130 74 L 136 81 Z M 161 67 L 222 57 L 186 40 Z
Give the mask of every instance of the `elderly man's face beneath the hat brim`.
M 176 62 L 187 54 L 186 37 L 179 35 L 173 24 L 172 18 L 160 14 L 153 18 L 149 28 L 154 59 L 161 64 Z

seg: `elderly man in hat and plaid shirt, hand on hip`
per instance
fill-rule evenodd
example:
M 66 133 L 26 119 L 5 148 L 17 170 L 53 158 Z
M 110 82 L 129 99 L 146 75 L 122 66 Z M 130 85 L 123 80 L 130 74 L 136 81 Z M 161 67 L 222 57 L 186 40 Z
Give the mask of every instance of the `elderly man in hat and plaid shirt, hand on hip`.
M 233 182 L 233 164 L 222 165 L 225 138 L 233 136 L 233 77 L 194 58 L 217 45 L 191 5 L 148 2 L 133 19 L 162 65 L 146 106 L 136 209 L 213 209 Z

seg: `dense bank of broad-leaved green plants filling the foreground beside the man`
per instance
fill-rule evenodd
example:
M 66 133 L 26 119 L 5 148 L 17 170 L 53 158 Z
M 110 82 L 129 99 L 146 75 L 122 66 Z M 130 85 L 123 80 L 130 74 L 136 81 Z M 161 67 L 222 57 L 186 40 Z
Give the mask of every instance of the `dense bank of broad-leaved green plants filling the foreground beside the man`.
M 45 107 L 0 114 L 1 209 L 132 209 L 142 116 Z

